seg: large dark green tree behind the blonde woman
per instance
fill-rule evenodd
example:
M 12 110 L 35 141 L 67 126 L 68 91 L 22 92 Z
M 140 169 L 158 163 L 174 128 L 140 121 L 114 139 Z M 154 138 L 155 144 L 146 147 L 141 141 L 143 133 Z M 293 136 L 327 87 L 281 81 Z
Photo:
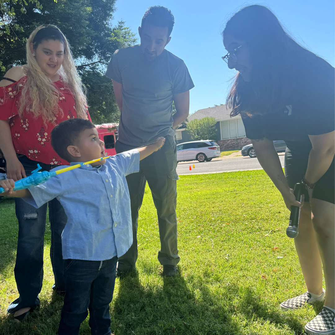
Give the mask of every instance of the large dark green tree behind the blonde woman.
M 92 121 L 118 122 L 120 112 L 112 81 L 104 72 L 114 51 L 135 44 L 136 38 L 124 21 L 112 25 L 115 3 L 116 0 L 40 0 L 38 3 L 23 0 L 22 5 L 22 0 L 0 0 L 2 70 L 25 64 L 24 43 L 31 31 L 40 24 L 55 24 L 70 43 L 87 88 Z

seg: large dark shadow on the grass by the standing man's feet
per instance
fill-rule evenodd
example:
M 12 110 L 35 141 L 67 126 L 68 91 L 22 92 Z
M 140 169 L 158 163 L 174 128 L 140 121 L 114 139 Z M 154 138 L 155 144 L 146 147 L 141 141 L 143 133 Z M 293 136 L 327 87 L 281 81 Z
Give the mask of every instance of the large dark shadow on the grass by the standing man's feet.
M 190 279 L 190 278 L 189 278 Z M 221 295 L 206 284 L 177 275 L 163 278 L 163 285 L 141 283 L 138 272 L 122 279 L 112 311 L 112 332 L 121 334 L 246 334 L 245 324 L 268 321 L 278 331 L 286 325 L 292 333 L 303 334 L 294 314 L 277 306 L 260 303 L 250 288 L 221 286 Z M 256 335 L 256 332 L 248 332 Z

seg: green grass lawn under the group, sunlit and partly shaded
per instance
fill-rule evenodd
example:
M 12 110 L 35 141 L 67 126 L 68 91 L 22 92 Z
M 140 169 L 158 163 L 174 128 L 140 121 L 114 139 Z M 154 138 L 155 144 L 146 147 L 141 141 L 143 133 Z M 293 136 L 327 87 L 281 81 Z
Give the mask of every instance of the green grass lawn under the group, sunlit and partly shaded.
M 160 276 L 157 216 L 147 188 L 138 223 L 137 270 L 116 280 L 112 332 L 302 334 L 322 304 L 295 312 L 279 309 L 280 302 L 306 287 L 293 241 L 285 234 L 289 212 L 264 171 L 181 176 L 177 186 L 180 275 Z M 14 202 L 7 200 L 0 203 L 0 334 L 56 334 L 62 298 L 51 289 L 49 227 L 41 307 L 23 323 L 6 314 L 18 297 L 16 241 Z M 90 334 L 88 320 L 80 334 Z

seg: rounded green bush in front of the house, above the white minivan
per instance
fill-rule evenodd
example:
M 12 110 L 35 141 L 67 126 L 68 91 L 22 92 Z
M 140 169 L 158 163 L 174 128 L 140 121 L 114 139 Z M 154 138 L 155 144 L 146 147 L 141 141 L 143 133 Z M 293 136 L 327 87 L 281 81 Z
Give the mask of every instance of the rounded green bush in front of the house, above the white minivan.
M 187 123 L 186 131 L 192 140 L 217 140 L 215 118 L 194 119 Z

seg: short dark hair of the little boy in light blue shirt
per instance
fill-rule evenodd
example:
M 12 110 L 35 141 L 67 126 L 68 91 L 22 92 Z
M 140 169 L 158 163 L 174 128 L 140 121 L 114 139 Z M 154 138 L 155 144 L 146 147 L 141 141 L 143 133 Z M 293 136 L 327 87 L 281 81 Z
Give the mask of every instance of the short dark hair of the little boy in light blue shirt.
M 51 131 L 51 145 L 62 159 L 71 162 L 73 157 L 67 151 L 67 147 L 76 145 L 80 133 L 92 128 L 95 128 L 94 124 L 85 119 L 63 121 Z

